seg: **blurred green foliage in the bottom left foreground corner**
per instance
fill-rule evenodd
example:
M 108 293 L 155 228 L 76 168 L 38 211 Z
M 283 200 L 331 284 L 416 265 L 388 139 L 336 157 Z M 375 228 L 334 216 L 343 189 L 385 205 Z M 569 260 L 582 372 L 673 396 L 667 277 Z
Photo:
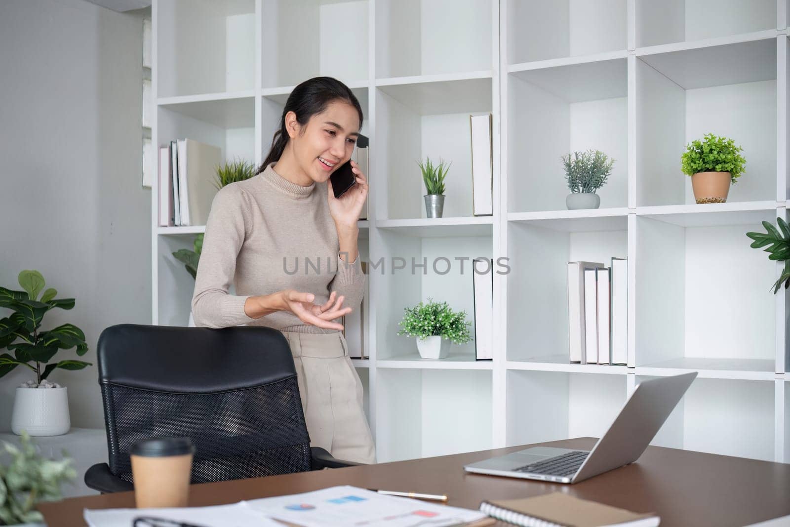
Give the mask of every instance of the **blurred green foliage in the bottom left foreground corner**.
M 22 435 L 20 446 L 4 442 L 7 465 L 0 465 L 0 525 L 42 525 L 36 510 L 40 502 L 62 498 L 60 486 L 77 477 L 71 460 L 52 461 L 36 453 L 30 436 Z M 20 525 L 21 527 L 21 525 Z

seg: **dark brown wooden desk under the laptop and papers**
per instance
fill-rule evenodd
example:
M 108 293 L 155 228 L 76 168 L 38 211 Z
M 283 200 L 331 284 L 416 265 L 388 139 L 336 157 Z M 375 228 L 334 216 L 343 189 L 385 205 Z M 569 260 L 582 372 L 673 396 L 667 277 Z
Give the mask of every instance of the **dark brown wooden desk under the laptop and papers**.
M 595 439 L 541 443 L 589 450 Z M 637 512 L 660 514 L 661 527 L 749 525 L 790 514 L 790 465 L 649 446 L 639 460 L 580 484 L 549 484 L 464 472 L 462 465 L 523 446 L 348 469 L 302 472 L 194 485 L 190 505 L 295 494 L 333 485 L 446 493 L 449 505 L 477 509 L 482 499 L 525 498 L 563 491 Z M 84 508 L 133 507 L 122 492 L 42 503 L 49 527 L 85 525 Z M 505 524 L 502 524 L 505 525 Z

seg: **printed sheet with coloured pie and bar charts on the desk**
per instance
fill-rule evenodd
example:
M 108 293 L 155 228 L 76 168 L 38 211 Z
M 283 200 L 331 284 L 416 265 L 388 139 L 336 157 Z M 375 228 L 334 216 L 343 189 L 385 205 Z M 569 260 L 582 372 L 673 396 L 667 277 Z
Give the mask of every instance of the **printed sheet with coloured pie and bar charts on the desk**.
M 351 527 L 383 525 L 416 527 L 417 525 L 474 525 L 487 518 L 479 510 L 461 509 L 417 499 L 397 498 L 363 488 L 340 486 L 275 498 L 245 502 L 277 520 L 303 527 Z

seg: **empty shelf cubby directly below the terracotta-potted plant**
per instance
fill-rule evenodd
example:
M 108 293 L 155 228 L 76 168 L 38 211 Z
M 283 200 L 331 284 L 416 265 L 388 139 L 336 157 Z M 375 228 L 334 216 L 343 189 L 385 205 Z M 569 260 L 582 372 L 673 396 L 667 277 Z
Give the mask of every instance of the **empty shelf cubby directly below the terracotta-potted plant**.
M 776 223 L 777 210 L 713 215 L 637 215 L 635 222 L 635 360 L 655 372 L 773 378 L 777 297 L 769 287 L 779 265 L 754 250 L 747 232 Z M 707 224 L 706 224 L 707 223 Z M 738 323 L 733 323 L 737 321 Z M 716 371 L 719 373 L 717 374 Z M 654 374 L 653 374 L 654 375 Z

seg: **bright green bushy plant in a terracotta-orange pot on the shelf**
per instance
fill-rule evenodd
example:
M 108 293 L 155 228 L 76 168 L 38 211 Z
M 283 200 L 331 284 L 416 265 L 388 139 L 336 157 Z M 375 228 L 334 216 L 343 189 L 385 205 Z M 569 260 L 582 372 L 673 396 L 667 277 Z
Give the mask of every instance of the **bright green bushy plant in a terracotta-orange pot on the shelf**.
M 702 141 L 691 141 L 680 157 L 683 174 L 691 176 L 691 188 L 697 203 L 724 203 L 730 183 L 736 183 L 746 160 L 743 151 L 728 137 L 705 134 Z

